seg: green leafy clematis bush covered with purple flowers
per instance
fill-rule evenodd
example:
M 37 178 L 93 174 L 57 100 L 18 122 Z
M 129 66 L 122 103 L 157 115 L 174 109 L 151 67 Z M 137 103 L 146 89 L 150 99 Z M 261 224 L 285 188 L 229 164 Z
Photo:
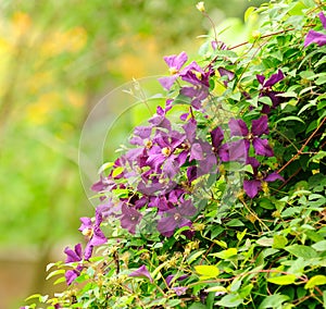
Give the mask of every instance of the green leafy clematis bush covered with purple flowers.
M 248 41 L 164 57 L 162 103 L 100 169 L 85 244 L 48 267 L 66 289 L 24 308 L 326 308 L 325 11 L 250 8 Z

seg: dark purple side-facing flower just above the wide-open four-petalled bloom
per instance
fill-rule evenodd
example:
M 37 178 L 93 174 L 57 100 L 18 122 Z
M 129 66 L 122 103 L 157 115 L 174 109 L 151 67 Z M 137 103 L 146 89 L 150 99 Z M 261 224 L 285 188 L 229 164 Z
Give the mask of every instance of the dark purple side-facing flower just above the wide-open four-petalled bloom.
M 276 74 L 273 74 L 267 81 L 264 75 L 256 75 L 256 79 L 262 85 L 260 97 L 268 97 L 272 100 L 272 107 L 263 104 L 262 113 L 269 113 L 271 109 L 275 109 L 277 106 L 285 101 L 285 98 L 278 96 L 279 94 L 283 94 L 283 91 L 272 90 L 272 86 L 284 79 L 284 77 L 285 76 L 280 70 L 278 70 Z

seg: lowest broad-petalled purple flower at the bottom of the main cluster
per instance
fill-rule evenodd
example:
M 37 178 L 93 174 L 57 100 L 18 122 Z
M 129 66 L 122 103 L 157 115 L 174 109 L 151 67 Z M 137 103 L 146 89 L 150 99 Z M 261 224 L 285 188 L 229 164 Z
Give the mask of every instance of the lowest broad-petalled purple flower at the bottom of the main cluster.
M 176 227 L 191 226 L 192 222 L 187 217 L 192 217 L 196 212 L 197 209 L 192 201 L 186 200 L 179 207 L 165 212 L 165 217 L 162 217 L 158 222 L 158 230 L 163 236 L 171 237 Z

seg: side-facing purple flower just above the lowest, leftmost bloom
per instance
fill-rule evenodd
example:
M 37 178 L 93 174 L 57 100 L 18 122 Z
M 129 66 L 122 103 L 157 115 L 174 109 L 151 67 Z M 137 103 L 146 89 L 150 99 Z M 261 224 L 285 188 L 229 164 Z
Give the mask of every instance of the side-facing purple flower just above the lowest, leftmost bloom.
M 83 235 L 88 238 L 88 243 L 85 248 L 85 259 L 88 260 L 92 255 L 92 249 L 95 246 L 100 246 L 106 243 L 106 237 L 100 228 L 102 222 L 102 215 L 100 212 L 96 213 L 95 222 L 88 218 L 80 218 L 82 225 L 78 228 Z

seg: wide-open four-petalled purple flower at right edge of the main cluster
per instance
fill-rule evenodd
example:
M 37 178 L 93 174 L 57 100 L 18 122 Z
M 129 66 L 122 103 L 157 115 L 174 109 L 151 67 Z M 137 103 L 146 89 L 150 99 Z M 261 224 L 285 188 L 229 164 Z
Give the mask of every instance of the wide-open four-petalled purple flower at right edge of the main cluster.
M 267 121 L 267 115 L 262 115 L 260 119 L 253 120 L 250 132 L 247 124 L 241 119 L 231 119 L 229 121 L 230 136 L 243 137 L 247 156 L 249 153 L 250 144 L 252 144 L 255 154 L 265 157 L 274 156 L 274 152 L 268 145 L 268 140 L 260 138 L 263 134 L 269 133 Z

